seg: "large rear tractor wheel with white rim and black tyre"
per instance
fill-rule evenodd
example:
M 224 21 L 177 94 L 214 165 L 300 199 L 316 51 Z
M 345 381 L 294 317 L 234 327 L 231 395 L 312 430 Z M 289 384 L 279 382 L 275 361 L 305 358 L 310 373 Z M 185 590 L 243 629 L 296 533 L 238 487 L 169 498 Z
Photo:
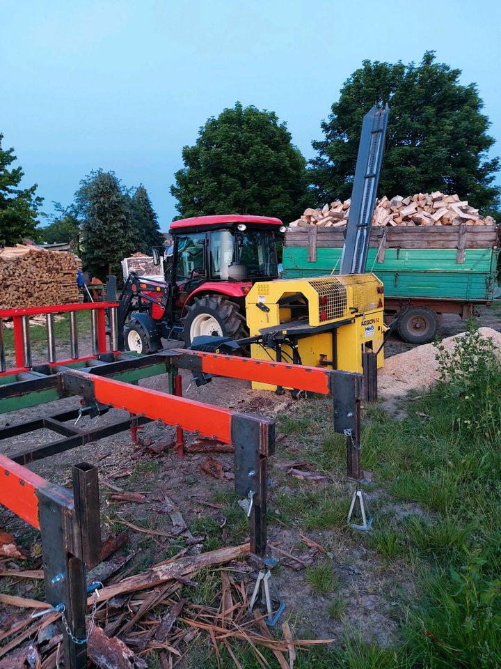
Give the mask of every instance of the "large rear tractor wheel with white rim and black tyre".
M 186 315 L 181 318 L 183 338 L 186 346 L 191 346 L 195 337 L 214 336 L 243 339 L 248 337 L 245 316 L 238 305 L 223 298 L 223 295 L 204 295 L 195 298 L 186 307 Z

